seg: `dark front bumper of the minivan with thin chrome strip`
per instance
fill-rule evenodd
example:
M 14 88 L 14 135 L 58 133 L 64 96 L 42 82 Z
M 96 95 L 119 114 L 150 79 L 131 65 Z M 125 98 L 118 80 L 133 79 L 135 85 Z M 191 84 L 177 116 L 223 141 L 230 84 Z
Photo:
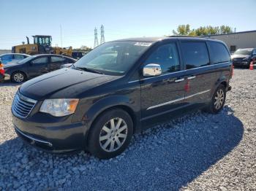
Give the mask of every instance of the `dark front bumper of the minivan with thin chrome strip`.
M 46 114 L 20 119 L 12 114 L 12 122 L 18 136 L 27 143 L 47 152 L 61 153 L 85 149 L 86 125 L 70 122 L 70 117 L 47 120 Z M 50 122 L 49 122 L 50 121 Z

